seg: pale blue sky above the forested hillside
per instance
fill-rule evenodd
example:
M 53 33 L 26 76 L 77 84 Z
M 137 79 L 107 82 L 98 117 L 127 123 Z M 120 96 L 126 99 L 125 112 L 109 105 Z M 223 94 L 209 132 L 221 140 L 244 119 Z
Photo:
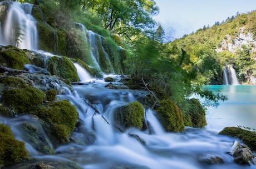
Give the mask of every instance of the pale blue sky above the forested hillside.
M 155 0 L 159 14 L 154 19 L 165 29 L 166 41 L 196 32 L 204 25 L 256 10 L 256 0 Z

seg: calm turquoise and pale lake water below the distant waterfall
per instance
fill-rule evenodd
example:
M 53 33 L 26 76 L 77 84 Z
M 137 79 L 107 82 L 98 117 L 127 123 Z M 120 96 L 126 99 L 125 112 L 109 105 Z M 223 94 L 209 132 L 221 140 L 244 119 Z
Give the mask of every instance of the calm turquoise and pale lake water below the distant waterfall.
M 205 88 L 220 91 L 228 100 L 218 106 L 209 107 L 206 112 L 207 129 L 222 130 L 227 126 L 245 126 L 256 129 L 256 86 L 214 85 Z

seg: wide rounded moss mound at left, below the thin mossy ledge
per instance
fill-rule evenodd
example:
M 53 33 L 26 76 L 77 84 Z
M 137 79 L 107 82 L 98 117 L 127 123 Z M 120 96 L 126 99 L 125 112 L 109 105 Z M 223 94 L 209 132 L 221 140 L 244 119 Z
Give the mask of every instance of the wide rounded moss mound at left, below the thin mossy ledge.
M 3 103 L 11 106 L 17 114 L 28 113 L 32 107 L 43 104 L 45 93 L 33 88 L 10 89 L 3 93 Z

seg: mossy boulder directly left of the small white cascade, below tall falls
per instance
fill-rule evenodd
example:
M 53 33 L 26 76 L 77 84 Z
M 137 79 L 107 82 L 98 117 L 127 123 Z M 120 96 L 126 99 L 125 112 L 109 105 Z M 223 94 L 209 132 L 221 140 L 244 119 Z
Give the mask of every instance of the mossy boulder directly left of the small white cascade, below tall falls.
M 79 76 L 73 62 L 67 57 L 51 57 L 47 60 L 48 71 L 63 79 L 79 81 Z

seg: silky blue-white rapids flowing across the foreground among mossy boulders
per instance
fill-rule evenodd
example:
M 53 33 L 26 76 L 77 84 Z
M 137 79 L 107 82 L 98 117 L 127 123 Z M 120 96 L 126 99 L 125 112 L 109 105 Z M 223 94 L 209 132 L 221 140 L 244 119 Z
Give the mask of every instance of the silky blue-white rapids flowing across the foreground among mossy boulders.
M 80 74 L 82 75 L 82 74 Z M 85 81 L 86 76 L 82 77 Z M 112 75 L 114 76 L 114 75 Z M 116 76 L 119 84 L 119 76 Z M 103 79 L 94 79 L 85 85 L 73 85 L 74 91 L 66 89 L 65 95 L 58 95 L 59 99 L 68 99 L 76 106 L 79 117 L 83 121 L 72 134 L 76 142 L 56 147 L 55 156 L 45 156 L 37 152 L 30 145 L 26 145 L 29 154 L 37 159 L 70 160 L 78 163 L 82 168 L 113 168 L 113 166 L 145 166 L 148 168 L 256 168 L 255 166 L 242 166 L 233 162 L 233 157 L 227 152 L 236 140 L 232 137 L 218 135 L 219 126 L 215 127 L 210 122 L 210 127 L 194 129 L 186 127 L 181 133 L 165 132 L 157 120 L 154 110 L 147 109 L 146 119 L 150 124 L 149 129 L 140 131 L 134 128 L 124 132 L 117 130 L 112 125 L 112 112 L 115 107 L 125 105 L 146 91 L 133 91 L 127 89 L 108 89 L 109 84 Z M 97 109 L 100 114 L 95 113 Z M 217 109 L 218 110 L 218 109 Z M 216 110 L 215 110 L 216 111 Z M 208 112 L 209 113 L 214 112 Z M 221 115 L 220 115 L 221 116 Z M 218 121 L 218 117 L 215 119 Z M 11 126 L 17 139 L 20 136 L 19 124 L 31 122 L 29 116 L 18 116 L 14 119 L 1 118 L 0 122 Z M 216 122 L 218 124 L 218 122 Z M 221 124 L 225 127 L 225 124 Z M 90 140 L 85 132 L 92 132 L 96 136 L 93 143 L 81 144 Z M 138 136 L 143 142 L 136 139 Z M 80 141 L 79 141 L 80 140 Z M 82 141 L 81 141 L 82 140 Z M 204 165 L 198 161 L 204 153 L 221 156 L 223 164 Z M 142 167 L 141 167 L 142 168 Z M 144 167 L 143 167 L 144 168 Z

